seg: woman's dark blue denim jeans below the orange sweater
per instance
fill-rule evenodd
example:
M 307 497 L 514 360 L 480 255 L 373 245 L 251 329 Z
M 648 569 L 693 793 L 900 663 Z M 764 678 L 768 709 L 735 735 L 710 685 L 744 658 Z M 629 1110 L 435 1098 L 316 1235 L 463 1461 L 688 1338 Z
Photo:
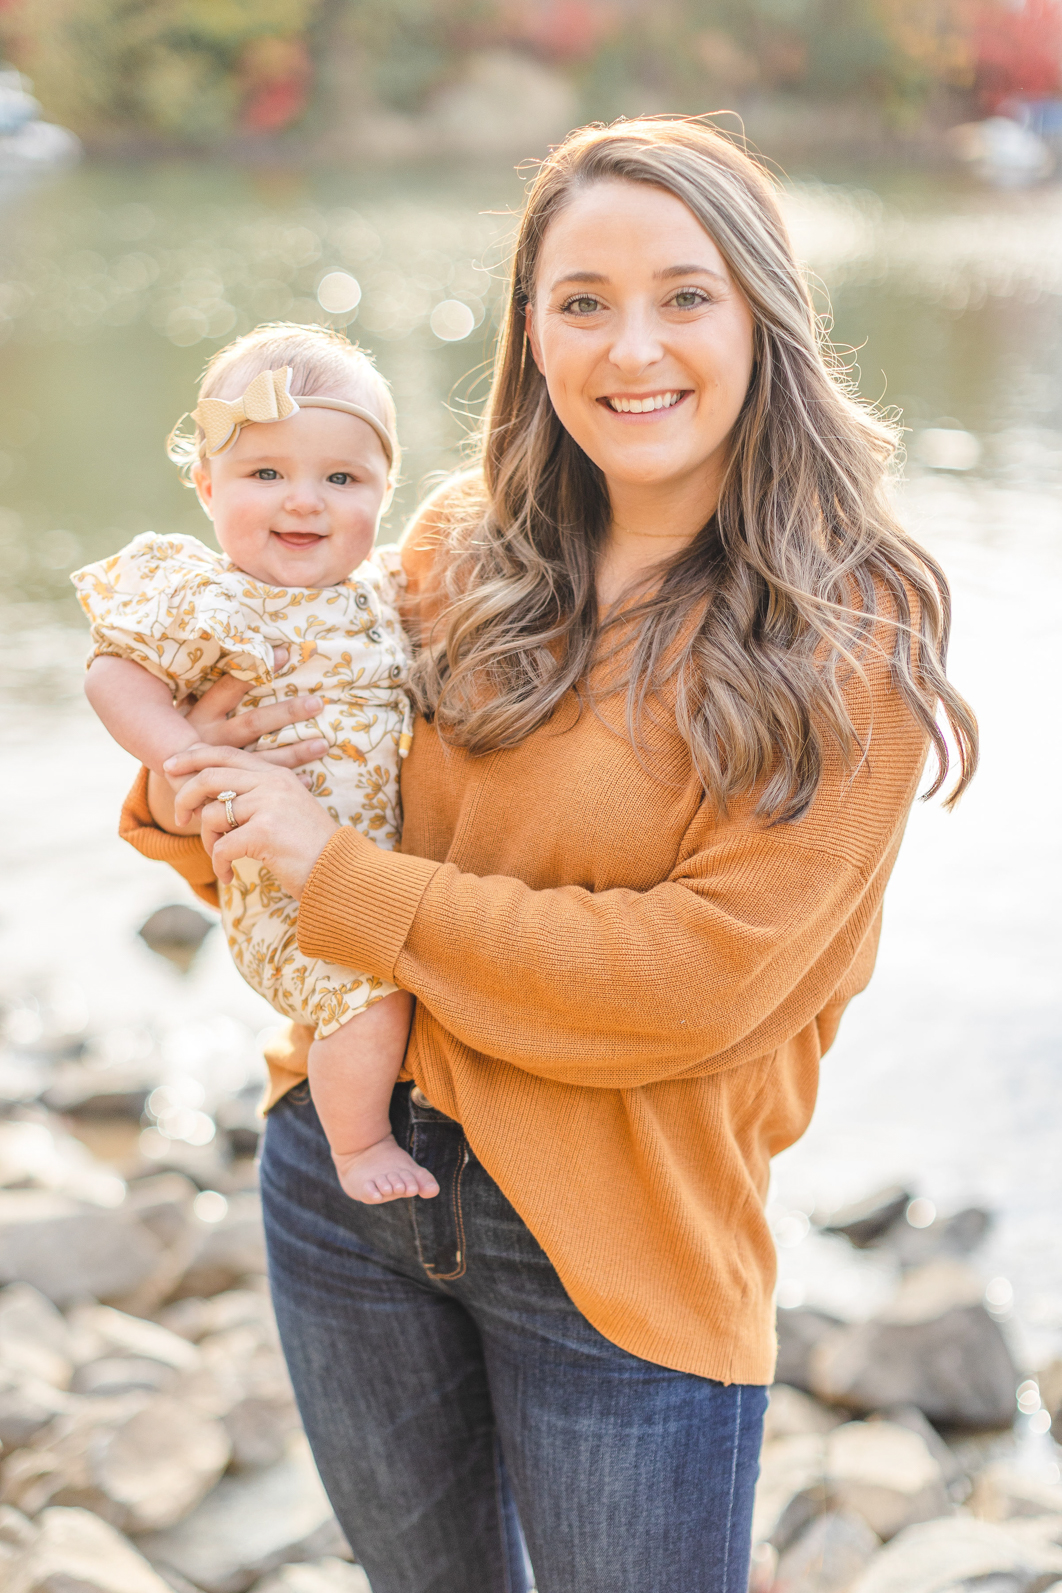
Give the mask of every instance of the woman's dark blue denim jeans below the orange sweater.
M 435 1200 L 347 1200 L 306 1085 L 261 1164 L 283 1351 L 373 1593 L 525 1593 L 524 1537 L 538 1593 L 745 1593 L 766 1389 L 610 1343 L 460 1125 L 409 1085 L 392 1123 Z

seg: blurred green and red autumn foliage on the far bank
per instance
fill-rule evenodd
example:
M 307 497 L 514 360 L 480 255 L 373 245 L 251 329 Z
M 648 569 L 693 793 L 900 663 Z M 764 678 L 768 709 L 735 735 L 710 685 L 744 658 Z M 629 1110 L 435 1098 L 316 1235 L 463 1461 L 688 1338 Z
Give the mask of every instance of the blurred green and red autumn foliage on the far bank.
M 314 134 L 344 97 L 416 115 L 484 51 L 588 116 L 787 96 L 917 119 L 1062 92 L 1062 0 L 0 0 L 0 51 L 91 140 Z

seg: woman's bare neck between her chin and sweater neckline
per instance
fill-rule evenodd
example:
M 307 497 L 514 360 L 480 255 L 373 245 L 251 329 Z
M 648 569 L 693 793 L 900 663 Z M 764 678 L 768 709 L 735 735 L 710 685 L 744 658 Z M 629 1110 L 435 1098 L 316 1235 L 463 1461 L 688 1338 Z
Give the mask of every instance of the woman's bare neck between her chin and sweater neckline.
M 718 487 L 704 478 L 674 487 L 610 483 L 611 524 L 597 561 L 597 602 L 610 609 L 650 570 L 688 548 L 715 513 Z

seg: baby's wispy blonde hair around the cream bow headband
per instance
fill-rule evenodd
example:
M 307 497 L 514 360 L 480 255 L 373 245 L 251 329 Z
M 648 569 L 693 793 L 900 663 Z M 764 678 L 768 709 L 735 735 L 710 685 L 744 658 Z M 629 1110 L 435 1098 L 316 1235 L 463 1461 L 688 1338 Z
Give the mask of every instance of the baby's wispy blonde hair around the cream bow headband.
M 392 486 L 398 479 L 401 460 L 398 448 L 398 416 L 390 384 L 376 370 L 373 355 L 350 342 L 331 327 L 299 327 L 290 320 L 271 320 L 236 338 L 207 362 L 199 381 L 199 398 L 239 398 L 261 371 L 291 366 L 290 393 L 299 398 L 346 398 L 352 389 L 357 403 L 371 409 L 390 432 L 393 459 L 388 470 Z M 178 465 L 188 486 L 191 472 L 205 456 L 205 436 L 196 425 L 194 435 L 180 427 L 182 416 L 166 438 L 167 457 Z

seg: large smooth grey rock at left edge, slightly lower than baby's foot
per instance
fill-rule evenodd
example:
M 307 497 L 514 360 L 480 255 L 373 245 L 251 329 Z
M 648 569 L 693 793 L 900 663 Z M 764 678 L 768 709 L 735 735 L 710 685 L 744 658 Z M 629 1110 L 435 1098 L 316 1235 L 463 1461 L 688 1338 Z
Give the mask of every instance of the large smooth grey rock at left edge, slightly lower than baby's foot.
M 54 1305 L 113 1298 L 140 1284 L 161 1255 L 127 1212 L 46 1190 L 0 1192 L 0 1284 L 29 1282 Z

